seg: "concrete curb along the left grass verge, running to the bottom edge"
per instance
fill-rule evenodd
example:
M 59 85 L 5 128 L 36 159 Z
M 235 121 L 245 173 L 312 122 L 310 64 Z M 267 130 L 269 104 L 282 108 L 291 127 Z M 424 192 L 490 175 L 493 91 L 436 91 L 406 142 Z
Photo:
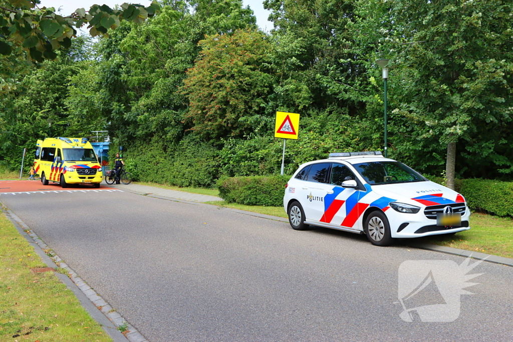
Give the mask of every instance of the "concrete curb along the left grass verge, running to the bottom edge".
M 148 340 L 130 325 L 119 313 L 117 313 L 100 295 L 98 295 L 87 283 L 79 277 L 64 261 L 43 242 L 16 214 L 7 208 L 4 213 L 14 224 L 18 232 L 25 237 L 27 242 L 34 247 L 35 252 L 43 259 L 44 263 L 53 269 L 62 268 L 67 275 L 54 274 L 73 291 L 80 304 L 91 317 L 98 322 L 114 342 L 148 342 Z M 125 326 L 128 333 L 123 334 L 119 327 Z

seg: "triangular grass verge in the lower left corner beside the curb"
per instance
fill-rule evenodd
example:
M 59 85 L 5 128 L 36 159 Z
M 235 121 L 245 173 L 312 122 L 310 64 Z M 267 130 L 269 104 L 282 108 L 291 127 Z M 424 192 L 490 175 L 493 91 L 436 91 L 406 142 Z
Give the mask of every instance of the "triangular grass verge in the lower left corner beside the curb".
M 0 213 L 0 340 L 112 341 Z

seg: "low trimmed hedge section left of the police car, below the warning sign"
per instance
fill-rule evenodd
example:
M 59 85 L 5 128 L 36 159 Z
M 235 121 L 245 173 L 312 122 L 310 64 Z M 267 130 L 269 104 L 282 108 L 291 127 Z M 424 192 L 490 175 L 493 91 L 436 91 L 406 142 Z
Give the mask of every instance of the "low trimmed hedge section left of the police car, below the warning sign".
M 226 202 L 280 207 L 289 179 L 290 176 L 225 177 L 219 179 L 217 185 L 219 196 Z

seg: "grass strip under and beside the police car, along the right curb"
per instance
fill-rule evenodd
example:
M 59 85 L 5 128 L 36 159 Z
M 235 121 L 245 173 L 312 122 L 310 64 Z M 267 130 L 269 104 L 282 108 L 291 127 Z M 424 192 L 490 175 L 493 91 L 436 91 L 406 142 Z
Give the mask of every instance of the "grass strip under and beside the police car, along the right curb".
M 225 201 L 206 202 L 215 206 L 287 218 L 283 207 L 244 206 Z M 513 258 L 513 219 L 481 213 L 470 216 L 470 230 L 455 235 L 404 239 L 406 244 L 423 243 Z

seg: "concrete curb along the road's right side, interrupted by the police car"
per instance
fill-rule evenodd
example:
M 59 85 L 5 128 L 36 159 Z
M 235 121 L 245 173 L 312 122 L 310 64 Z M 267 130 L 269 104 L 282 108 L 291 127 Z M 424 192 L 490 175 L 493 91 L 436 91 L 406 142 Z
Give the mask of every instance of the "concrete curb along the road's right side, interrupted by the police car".
M 133 190 L 128 189 L 128 188 L 123 188 L 123 190 L 125 190 L 127 192 L 134 193 L 134 194 L 143 194 L 141 192 L 133 191 Z M 154 197 L 154 198 L 160 198 L 160 199 L 166 199 L 166 200 L 173 200 L 175 202 L 193 204 L 193 205 L 196 205 L 196 206 L 202 206 L 202 205 L 203 206 L 212 206 L 211 204 L 207 204 L 207 203 L 191 202 L 191 201 L 180 199 L 180 198 L 165 197 L 165 196 L 162 196 L 162 195 L 159 195 L 159 196 L 148 195 L 148 194 L 144 194 L 144 195 L 147 195 L 148 197 Z M 281 221 L 281 222 L 288 223 L 288 219 L 283 218 L 283 217 L 259 214 L 259 213 L 254 213 L 254 212 L 251 212 L 251 211 L 245 211 L 245 210 L 240 210 L 240 209 L 232 209 L 232 208 L 227 208 L 227 207 L 220 207 L 220 206 L 216 206 L 216 207 L 218 207 L 220 210 L 226 210 L 226 211 L 231 211 L 231 212 L 235 212 L 235 213 L 239 213 L 239 214 L 243 214 L 243 215 L 267 218 L 267 219 L 272 219 L 272 220 L 275 220 L 275 221 Z M 497 256 L 497 255 L 491 255 L 491 254 L 485 254 L 485 253 L 479 253 L 479 252 L 472 252 L 472 251 L 467 251 L 467 250 L 464 250 L 464 249 L 457 249 L 457 248 L 452 248 L 452 247 L 430 245 L 430 244 L 409 243 L 407 245 L 410 246 L 410 247 L 413 247 L 413 248 L 425 249 L 425 250 L 429 250 L 429 251 L 433 251 L 433 252 L 439 252 L 439 253 L 445 253 L 445 254 L 451 254 L 451 255 L 457 255 L 457 256 L 464 256 L 464 257 L 470 256 L 473 259 L 484 260 L 484 261 L 487 261 L 488 263 L 494 263 L 494 264 L 499 264 L 499 265 L 505 265 L 505 266 L 513 267 L 513 259 L 506 258 L 506 257 L 503 257 L 503 256 Z

